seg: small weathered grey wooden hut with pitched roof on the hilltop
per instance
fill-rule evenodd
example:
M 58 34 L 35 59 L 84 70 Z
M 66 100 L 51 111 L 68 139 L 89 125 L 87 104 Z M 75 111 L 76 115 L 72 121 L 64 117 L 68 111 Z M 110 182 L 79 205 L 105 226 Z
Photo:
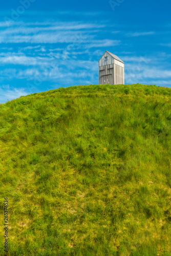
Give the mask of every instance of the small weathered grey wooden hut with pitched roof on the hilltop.
M 108 57 L 108 60 L 105 60 Z M 99 60 L 99 84 L 124 84 L 124 63 L 105 52 Z

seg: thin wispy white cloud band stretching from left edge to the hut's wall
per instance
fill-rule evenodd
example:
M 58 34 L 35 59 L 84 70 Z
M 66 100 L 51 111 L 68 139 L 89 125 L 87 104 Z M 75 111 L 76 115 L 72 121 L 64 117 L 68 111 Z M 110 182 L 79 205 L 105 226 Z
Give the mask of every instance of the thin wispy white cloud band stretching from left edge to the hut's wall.
M 63 77 L 84 79 L 94 72 L 98 74 L 98 65 L 95 60 L 80 60 L 78 62 L 76 59 L 69 58 L 67 63 L 65 60 L 61 60 L 60 64 L 54 67 L 51 64 L 52 63 L 49 62 L 47 66 L 27 68 L 25 70 L 16 68 L 0 70 L 0 76 L 1 78 L 28 80 L 34 80 L 36 78 L 40 78 L 41 80 L 42 77 L 44 77 L 42 80 L 46 81 Z

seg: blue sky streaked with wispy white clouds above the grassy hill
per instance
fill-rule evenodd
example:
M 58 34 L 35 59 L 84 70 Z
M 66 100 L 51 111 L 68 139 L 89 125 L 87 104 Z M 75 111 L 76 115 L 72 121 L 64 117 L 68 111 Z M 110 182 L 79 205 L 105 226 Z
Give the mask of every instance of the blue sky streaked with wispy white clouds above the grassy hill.
M 20 0 L 1 4 L 0 102 L 98 84 L 108 50 L 125 84 L 171 87 L 170 1 Z

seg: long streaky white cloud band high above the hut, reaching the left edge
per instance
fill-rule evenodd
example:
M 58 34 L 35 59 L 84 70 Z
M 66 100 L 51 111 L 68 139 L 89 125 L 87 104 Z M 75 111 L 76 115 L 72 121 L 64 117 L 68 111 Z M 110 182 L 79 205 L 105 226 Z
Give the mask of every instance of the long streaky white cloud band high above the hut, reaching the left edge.
M 0 33 L 0 43 L 56 44 L 81 39 L 90 42 L 106 25 L 85 22 L 45 22 L 42 25 L 14 23 Z M 78 39 L 79 38 L 79 39 Z

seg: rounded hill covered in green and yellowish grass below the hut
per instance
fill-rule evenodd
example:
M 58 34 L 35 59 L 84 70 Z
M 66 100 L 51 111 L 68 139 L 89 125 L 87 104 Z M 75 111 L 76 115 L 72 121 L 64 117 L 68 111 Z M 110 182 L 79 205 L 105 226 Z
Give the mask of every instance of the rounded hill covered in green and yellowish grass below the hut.
M 0 254 L 171 255 L 171 89 L 78 86 L 0 105 Z M 4 254 L 3 254 L 4 253 Z

